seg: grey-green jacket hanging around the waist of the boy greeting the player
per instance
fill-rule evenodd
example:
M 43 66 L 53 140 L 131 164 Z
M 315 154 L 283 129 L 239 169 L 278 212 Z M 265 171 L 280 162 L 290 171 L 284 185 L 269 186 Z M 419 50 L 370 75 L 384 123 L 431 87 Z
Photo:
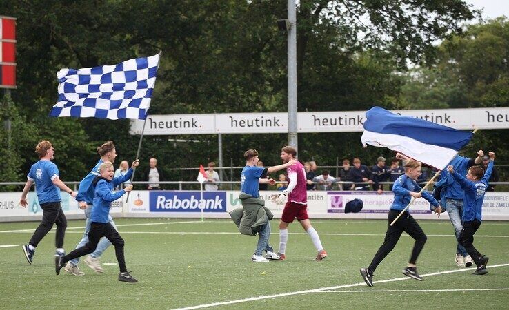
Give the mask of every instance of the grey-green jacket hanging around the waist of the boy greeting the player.
M 253 196 L 241 193 L 239 194 L 242 207 L 230 212 L 233 222 L 241 234 L 255 236 L 261 230 L 261 226 L 272 220 L 274 215 L 265 207 L 265 200 L 254 198 Z

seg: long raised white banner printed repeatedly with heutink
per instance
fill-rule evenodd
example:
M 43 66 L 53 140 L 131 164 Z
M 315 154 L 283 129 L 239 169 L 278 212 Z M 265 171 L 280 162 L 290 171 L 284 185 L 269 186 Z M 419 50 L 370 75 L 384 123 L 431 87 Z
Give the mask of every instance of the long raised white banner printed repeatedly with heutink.
M 509 107 L 392 110 L 459 130 L 509 128 Z M 362 132 L 366 111 L 298 112 L 297 132 Z M 140 134 L 143 121 L 131 123 Z M 146 135 L 266 134 L 288 132 L 288 113 L 174 114 L 147 117 Z

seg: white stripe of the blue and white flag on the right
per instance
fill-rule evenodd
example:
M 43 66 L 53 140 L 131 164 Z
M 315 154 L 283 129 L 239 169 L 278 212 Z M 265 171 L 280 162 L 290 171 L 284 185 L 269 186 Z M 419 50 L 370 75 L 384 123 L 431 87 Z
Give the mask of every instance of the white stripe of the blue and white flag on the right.
M 388 147 L 406 156 L 432 165 L 437 169 L 445 169 L 446 165 L 457 154 L 454 149 L 422 143 L 408 136 L 397 134 L 380 134 L 364 130 L 361 138 L 362 143 L 376 147 Z

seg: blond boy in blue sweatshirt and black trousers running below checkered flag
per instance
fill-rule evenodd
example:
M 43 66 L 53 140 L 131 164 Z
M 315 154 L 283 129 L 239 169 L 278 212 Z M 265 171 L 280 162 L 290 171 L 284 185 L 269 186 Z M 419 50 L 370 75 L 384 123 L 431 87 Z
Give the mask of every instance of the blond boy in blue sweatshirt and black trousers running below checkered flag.
M 79 247 L 66 256 L 62 256 L 60 260 L 56 262 L 55 271 L 57 272 L 57 275 L 60 274 L 60 269 L 62 269 L 68 261 L 92 253 L 97 247 L 99 240 L 102 237 L 106 237 L 115 247 L 115 255 L 117 256 L 120 268 L 118 280 L 130 283 L 138 282 L 138 280 L 132 278 L 127 271 L 126 261 L 123 256 L 123 239 L 117 229 L 115 229 L 115 227 L 110 223 L 109 219 L 111 203 L 114 200 L 121 198 L 121 196 L 126 194 L 126 192 L 130 192 L 132 190 L 132 185 L 127 185 L 124 189 L 114 193 L 114 187 L 126 182 L 126 180 L 129 180 L 132 176 L 132 168 L 137 167 L 138 165 L 138 160 L 132 162 L 131 168 L 126 174 L 119 176 L 118 178 L 113 178 L 113 164 L 109 161 L 101 163 L 99 166 L 99 172 L 101 175 L 94 178 L 94 182 L 92 183 L 95 187 L 95 197 L 92 214 L 90 216 L 88 242 L 83 247 Z

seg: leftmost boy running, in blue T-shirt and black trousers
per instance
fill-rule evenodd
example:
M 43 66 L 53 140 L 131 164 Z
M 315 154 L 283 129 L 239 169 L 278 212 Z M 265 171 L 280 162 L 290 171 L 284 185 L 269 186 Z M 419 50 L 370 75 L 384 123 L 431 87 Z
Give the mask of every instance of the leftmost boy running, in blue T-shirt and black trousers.
M 41 242 L 41 240 L 51 230 L 53 224 L 57 224 L 57 235 L 55 236 L 55 260 L 58 260 L 60 256 L 63 256 L 63 237 L 66 234 L 67 219 L 66 215 L 63 214 L 63 210 L 60 205 L 61 196 L 60 189 L 68 192 L 72 197 L 76 197 L 77 193 L 72 191 L 67 185 L 65 185 L 59 178 L 59 169 L 57 165 L 52 163 L 54 159 L 54 148 L 50 141 L 43 140 L 35 147 L 35 152 L 39 156 L 39 161 L 34 163 L 28 172 L 28 180 L 23 188 L 21 194 L 21 200 L 19 204 L 21 207 L 26 207 L 28 204 L 26 195 L 35 183 L 35 190 L 37 192 L 37 198 L 41 209 L 43 209 L 43 218 L 39 227 L 35 229 L 32 238 L 28 245 L 23 245 L 23 254 L 25 254 L 26 260 L 29 264 L 32 264 L 32 258 L 35 254 L 35 248 Z

